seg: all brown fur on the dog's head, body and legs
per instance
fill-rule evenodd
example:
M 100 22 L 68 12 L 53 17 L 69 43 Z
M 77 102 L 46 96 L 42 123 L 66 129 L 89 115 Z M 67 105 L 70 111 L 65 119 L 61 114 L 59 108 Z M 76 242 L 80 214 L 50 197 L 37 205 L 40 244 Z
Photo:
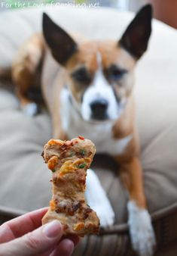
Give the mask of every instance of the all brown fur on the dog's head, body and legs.
M 115 156 L 115 159 L 121 166 L 121 179 L 130 193 L 130 199 L 136 201 L 139 207 L 145 208 L 142 167 L 139 162 L 139 140 L 136 132 L 135 106 L 132 95 L 135 58 L 123 48 L 117 47 L 117 42 L 83 42 L 79 45 L 79 51 L 69 59 L 64 69 L 53 60 L 49 51 L 44 46 L 41 35 L 35 35 L 26 45 L 23 45 L 18 58 L 14 62 L 13 77 L 17 84 L 17 92 L 23 104 L 26 101 L 26 90 L 35 81 L 35 69 L 41 63 L 42 55 L 45 54 L 41 86 L 50 114 L 53 117 L 53 136 L 54 138 L 67 139 L 66 134 L 61 128 L 61 120 L 58 114 L 60 109 L 60 91 L 67 80 L 75 99 L 77 101 L 81 100 L 81 89 L 77 89 L 77 86 L 69 77 L 69 73 L 72 73 L 81 64 L 85 64 L 87 70 L 94 76 L 97 70 L 96 52 L 98 51 L 102 55 L 103 70 L 112 63 L 128 70 L 127 76 L 121 82 L 124 83 L 124 86 L 114 85 L 117 95 L 128 98 L 128 103 L 121 118 L 114 124 L 112 135 L 115 139 L 121 139 L 130 134 L 133 135 L 133 139 L 127 145 L 124 154 Z

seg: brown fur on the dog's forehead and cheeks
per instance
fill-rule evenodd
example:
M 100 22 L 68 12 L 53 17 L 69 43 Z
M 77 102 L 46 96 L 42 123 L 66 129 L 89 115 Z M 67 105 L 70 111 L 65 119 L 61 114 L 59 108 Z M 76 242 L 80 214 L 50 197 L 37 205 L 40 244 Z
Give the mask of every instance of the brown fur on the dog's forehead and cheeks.
M 111 64 L 117 64 L 118 67 L 124 68 L 128 71 L 127 76 L 121 81 L 119 86 L 114 84 L 114 88 L 117 91 L 117 95 L 121 97 L 128 97 L 132 91 L 134 76 L 133 67 L 136 61 L 129 53 L 123 48 L 117 47 L 117 42 L 104 41 L 104 42 L 84 42 L 79 45 L 79 51 L 75 53 L 72 58 L 66 64 L 66 70 L 68 73 L 72 73 L 81 64 L 87 67 L 87 70 L 92 76 L 97 70 L 96 53 L 100 52 L 102 55 L 102 69 L 105 70 Z M 124 86 L 122 86 L 124 84 Z M 77 86 L 72 80 L 69 80 L 70 89 L 77 101 L 81 98 L 81 90 L 77 91 Z

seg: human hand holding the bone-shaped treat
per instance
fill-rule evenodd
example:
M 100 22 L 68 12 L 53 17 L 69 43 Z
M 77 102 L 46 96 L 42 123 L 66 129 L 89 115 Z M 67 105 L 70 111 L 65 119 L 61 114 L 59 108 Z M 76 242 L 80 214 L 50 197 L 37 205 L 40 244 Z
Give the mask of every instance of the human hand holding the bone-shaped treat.
M 41 226 L 47 208 L 29 212 L 0 226 L 0 256 L 69 256 L 78 244 L 77 236 L 62 238 L 58 220 Z

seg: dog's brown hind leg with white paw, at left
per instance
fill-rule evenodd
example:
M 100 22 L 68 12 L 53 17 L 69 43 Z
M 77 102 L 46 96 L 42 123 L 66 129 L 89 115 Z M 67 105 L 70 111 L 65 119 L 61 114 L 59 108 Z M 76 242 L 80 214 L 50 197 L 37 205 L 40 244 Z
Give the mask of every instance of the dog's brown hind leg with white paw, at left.
M 20 48 L 12 65 L 12 79 L 17 86 L 20 105 L 30 116 L 38 112 L 38 106 L 29 98 L 28 92 L 32 87 L 40 86 L 39 72 L 43 52 L 43 39 L 40 34 L 36 34 Z

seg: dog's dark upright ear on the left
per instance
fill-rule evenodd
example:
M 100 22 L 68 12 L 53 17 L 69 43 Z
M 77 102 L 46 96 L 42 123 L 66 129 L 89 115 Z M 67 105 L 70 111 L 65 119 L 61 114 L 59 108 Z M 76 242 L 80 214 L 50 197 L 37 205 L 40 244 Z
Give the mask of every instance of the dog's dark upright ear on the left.
M 76 42 L 45 13 L 43 14 L 42 28 L 44 39 L 53 58 L 60 64 L 66 64 L 66 61 L 77 51 Z

